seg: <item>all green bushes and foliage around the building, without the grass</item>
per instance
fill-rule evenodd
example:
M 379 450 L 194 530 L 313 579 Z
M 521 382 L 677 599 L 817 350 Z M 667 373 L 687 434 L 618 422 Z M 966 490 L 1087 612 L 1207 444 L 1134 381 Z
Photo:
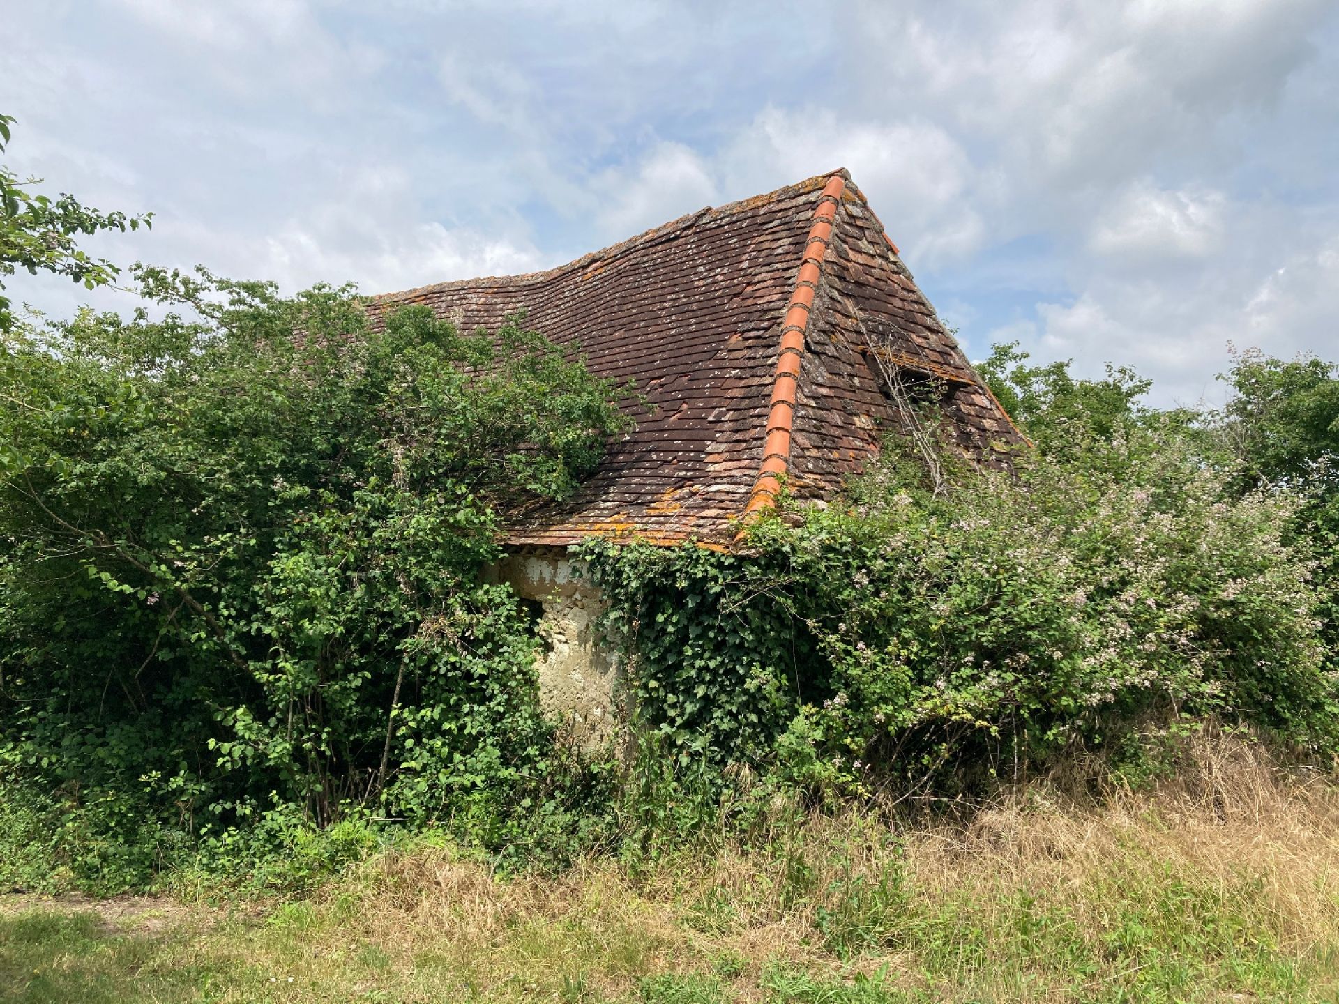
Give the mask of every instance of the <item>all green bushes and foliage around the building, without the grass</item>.
M 115 280 L 76 240 L 149 217 L 35 183 L 0 167 L 0 278 Z M 400 825 L 635 859 L 797 792 L 983 794 L 1081 751 L 1137 779 L 1204 716 L 1339 750 L 1332 364 L 1245 353 L 1223 410 L 1162 411 L 1129 368 L 1000 345 L 981 373 L 1032 442 L 1008 471 L 944 450 L 929 483 L 893 439 L 744 550 L 589 542 L 639 709 L 620 759 L 554 743 L 530 617 L 481 570 L 627 388 L 520 319 L 135 278 L 129 319 L 0 297 L 4 881 L 189 857 L 292 885 Z

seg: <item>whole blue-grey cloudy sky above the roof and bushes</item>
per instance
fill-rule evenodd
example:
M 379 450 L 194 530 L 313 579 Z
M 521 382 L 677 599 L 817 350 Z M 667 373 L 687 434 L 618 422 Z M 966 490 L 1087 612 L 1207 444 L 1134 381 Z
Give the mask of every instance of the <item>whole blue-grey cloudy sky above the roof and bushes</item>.
M 4 8 L 9 166 L 153 210 L 118 261 L 382 292 L 845 166 L 973 359 L 1193 403 L 1229 343 L 1339 356 L 1335 0 Z

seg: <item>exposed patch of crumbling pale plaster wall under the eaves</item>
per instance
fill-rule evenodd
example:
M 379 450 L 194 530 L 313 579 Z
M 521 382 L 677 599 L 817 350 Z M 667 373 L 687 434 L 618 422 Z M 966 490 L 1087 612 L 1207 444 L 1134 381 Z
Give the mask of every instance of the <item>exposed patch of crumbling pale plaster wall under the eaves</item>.
M 599 589 L 576 574 L 578 565 L 562 548 L 526 548 L 487 572 L 493 581 L 507 582 L 522 598 L 541 604 L 540 704 L 574 742 L 595 746 L 617 735 L 627 705 L 617 657 L 600 644 L 596 629 L 605 602 Z

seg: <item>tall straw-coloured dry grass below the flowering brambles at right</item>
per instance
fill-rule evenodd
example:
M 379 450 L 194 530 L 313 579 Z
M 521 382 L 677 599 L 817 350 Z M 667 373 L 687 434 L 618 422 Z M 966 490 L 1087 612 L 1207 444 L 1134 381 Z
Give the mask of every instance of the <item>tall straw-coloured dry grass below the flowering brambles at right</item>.
M 1185 759 L 1148 792 L 1111 791 L 1087 802 L 1063 787 L 1035 786 L 965 829 L 927 830 L 915 841 L 916 871 L 939 888 L 1063 889 L 1101 885 L 1119 863 L 1157 862 L 1170 875 L 1221 890 L 1253 881 L 1285 946 L 1332 944 L 1339 937 L 1335 779 L 1284 767 L 1263 744 L 1233 735 L 1192 736 Z M 1074 906 L 1097 920 L 1098 904 Z

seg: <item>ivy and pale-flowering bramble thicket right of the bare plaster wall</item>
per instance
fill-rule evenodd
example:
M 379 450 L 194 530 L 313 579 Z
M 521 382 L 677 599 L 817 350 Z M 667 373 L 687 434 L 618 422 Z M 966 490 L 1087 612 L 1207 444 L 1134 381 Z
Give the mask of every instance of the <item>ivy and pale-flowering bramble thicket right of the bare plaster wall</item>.
M 1334 754 L 1307 499 L 1243 489 L 1220 438 L 1133 406 L 1127 373 L 1016 376 L 1044 446 L 1012 473 L 935 493 L 894 442 L 845 498 L 751 526 L 746 554 L 585 546 L 647 724 L 684 767 L 984 794 L 1204 716 Z

